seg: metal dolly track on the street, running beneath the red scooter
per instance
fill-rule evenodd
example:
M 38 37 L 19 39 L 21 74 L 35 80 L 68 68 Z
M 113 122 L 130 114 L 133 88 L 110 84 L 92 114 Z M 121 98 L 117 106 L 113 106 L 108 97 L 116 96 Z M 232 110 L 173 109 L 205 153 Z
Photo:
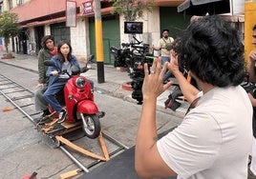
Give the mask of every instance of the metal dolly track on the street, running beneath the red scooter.
M 11 104 L 14 106 L 13 108 L 9 109 L 3 109 L 3 110 L 11 110 L 11 109 L 19 109 L 26 118 L 28 118 L 34 127 L 36 127 L 37 121 L 40 118 L 41 112 L 36 112 L 34 108 L 34 93 L 31 89 L 28 89 L 24 87 L 23 85 L 11 80 L 9 77 L 0 74 L 0 93 L 5 96 L 5 98 L 11 102 Z M 45 133 L 42 133 L 42 137 L 49 140 L 49 143 L 52 143 L 52 146 L 54 146 L 55 139 L 53 139 L 51 136 L 48 136 Z M 117 146 L 117 149 L 109 153 L 110 157 L 114 157 L 117 154 L 123 152 L 125 149 L 128 149 L 125 145 L 121 144 L 119 141 L 117 141 L 115 138 L 111 137 L 110 135 L 103 133 L 103 137 L 108 140 L 113 145 Z M 89 172 L 91 168 L 95 167 L 97 164 L 99 164 L 101 161 L 95 160 L 94 162 L 90 163 L 89 165 L 85 166 L 80 161 L 78 161 L 75 158 L 75 155 L 72 153 L 72 151 L 69 151 L 68 149 L 64 148 L 64 146 L 59 146 L 58 149 L 61 149 L 68 157 L 71 158 L 75 162 L 75 164 L 82 169 L 85 172 Z

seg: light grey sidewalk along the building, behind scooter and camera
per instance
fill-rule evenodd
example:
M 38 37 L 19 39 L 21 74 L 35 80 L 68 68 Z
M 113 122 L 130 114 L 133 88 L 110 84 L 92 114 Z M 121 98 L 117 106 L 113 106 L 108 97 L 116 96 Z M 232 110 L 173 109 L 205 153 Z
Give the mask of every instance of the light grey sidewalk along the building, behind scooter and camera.
M 0 51 L 0 56 L 3 56 L 3 51 Z M 21 68 L 24 70 L 30 70 L 32 72 L 38 73 L 37 70 L 37 56 L 27 55 L 27 54 L 17 54 L 13 53 L 15 58 L 12 59 L 0 59 L 0 63 L 4 63 L 7 65 L 11 65 L 12 67 Z M 80 62 L 80 65 L 83 66 L 83 63 Z M 131 103 L 137 103 L 131 96 L 132 91 L 127 89 L 122 89 L 122 85 L 124 83 L 130 82 L 131 79 L 128 76 L 126 71 L 121 72 L 114 68 L 113 66 L 104 66 L 104 76 L 105 83 L 98 84 L 97 83 L 97 70 L 96 64 L 91 64 L 92 70 L 88 70 L 86 73 L 82 75 L 92 79 L 95 82 L 95 91 L 99 94 L 106 93 L 112 95 L 117 98 L 121 98 L 124 101 L 128 101 Z M 164 101 L 167 99 L 171 89 L 163 92 L 158 98 L 158 109 L 165 113 L 170 113 L 171 115 L 175 115 L 178 117 L 183 117 L 186 109 L 188 108 L 188 104 L 186 102 L 181 102 L 181 107 L 176 111 L 172 109 L 164 108 Z

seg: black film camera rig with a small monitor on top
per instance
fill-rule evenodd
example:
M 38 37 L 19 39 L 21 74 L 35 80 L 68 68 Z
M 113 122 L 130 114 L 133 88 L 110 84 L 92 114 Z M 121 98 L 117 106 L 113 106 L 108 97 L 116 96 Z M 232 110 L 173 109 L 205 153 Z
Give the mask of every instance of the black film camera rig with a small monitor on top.
M 136 34 L 142 33 L 141 22 L 125 22 L 124 32 L 132 34 L 133 41 L 122 43 L 120 49 L 112 46 L 110 53 L 115 57 L 115 67 L 127 68 L 127 72 L 132 79 L 132 98 L 136 99 L 138 104 L 141 105 L 143 100 L 141 89 L 144 80 L 144 64 L 147 63 L 149 68 L 152 66 L 155 58 L 154 51 L 149 48 L 148 44 L 143 44 L 142 41 L 136 38 Z

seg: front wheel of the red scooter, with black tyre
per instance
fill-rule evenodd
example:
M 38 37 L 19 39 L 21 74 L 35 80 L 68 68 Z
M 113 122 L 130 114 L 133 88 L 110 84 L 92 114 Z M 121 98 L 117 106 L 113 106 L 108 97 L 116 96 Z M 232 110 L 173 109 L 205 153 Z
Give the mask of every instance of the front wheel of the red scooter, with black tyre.
M 85 135 L 91 139 L 95 139 L 98 137 L 100 132 L 100 122 L 97 115 L 87 115 L 81 113 L 81 118 L 83 122 L 83 130 L 85 131 Z

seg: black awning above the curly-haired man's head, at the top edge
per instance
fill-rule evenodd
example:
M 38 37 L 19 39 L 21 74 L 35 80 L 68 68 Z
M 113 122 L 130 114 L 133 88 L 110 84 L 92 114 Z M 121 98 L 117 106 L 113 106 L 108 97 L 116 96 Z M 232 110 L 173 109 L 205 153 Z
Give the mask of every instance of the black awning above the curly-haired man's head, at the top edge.
M 229 0 L 185 0 L 178 12 L 190 15 L 205 15 L 206 13 L 221 14 L 230 12 Z

